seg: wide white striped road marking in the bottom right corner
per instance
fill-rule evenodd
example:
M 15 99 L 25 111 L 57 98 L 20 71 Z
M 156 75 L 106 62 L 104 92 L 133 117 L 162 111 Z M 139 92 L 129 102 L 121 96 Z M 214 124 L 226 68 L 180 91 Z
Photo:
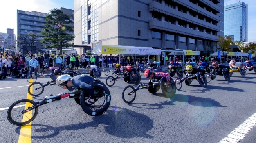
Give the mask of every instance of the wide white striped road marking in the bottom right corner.
M 256 113 L 248 117 L 241 125 L 236 127 L 232 132 L 230 132 L 226 137 L 224 137 L 218 143 L 238 143 L 243 138 L 246 137 L 246 134 L 254 128 L 256 125 Z

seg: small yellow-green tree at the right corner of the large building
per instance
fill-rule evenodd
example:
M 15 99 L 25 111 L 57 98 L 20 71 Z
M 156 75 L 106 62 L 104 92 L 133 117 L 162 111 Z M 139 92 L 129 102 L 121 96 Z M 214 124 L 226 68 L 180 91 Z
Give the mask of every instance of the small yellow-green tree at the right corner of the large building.
M 219 48 L 217 48 L 217 50 L 220 50 L 222 51 L 222 54 L 225 58 L 225 56 L 231 52 L 231 48 L 229 48 L 230 45 L 233 45 L 233 42 L 232 42 L 232 38 L 231 36 L 227 36 L 225 35 L 224 37 L 221 36 L 221 35 L 218 35 L 219 39 L 217 39 L 217 44 L 219 46 Z

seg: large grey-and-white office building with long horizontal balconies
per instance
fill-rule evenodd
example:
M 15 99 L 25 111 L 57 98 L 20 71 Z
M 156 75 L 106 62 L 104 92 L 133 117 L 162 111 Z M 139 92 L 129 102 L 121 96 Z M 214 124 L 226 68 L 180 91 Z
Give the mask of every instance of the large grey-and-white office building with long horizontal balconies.
M 74 0 L 74 45 L 204 52 L 224 35 L 223 0 Z

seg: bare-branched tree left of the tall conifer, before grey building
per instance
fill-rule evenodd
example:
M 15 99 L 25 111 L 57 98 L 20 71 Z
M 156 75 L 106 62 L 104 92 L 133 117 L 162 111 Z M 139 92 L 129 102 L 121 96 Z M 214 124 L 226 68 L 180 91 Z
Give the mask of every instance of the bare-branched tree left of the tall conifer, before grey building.
M 36 38 L 38 37 L 35 33 L 28 33 L 28 35 L 19 35 L 16 41 L 17 48 L 32 52 L 33 50 L 40 50 L 41 47 L 34 46 Z

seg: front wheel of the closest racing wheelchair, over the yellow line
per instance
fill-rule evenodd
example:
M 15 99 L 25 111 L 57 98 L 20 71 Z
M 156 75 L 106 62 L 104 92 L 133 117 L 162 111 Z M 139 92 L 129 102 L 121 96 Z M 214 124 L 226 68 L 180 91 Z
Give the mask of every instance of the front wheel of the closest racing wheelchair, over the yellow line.
M 33 106 L 36 106 L 36 102 L 29 99 L 22 99 L 14 102 L 7 111 L 8 121 L 17 126 L 29 124 L 36 118 L 38 108 L 34 108 L 24 114 L 22 114 L 22 111 L 28 110 Z

